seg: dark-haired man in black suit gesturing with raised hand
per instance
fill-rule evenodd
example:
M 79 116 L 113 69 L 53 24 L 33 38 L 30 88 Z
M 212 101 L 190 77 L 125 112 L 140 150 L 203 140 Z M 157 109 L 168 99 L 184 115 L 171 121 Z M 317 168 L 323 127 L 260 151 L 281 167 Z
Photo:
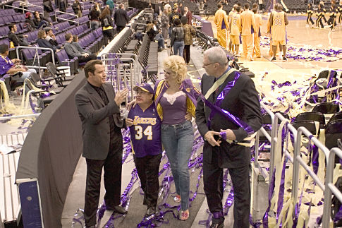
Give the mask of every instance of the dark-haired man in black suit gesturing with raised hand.
M 85 225 L 95 227 L 99 205 L 102 168 L 104 168 L 104 201 L 106 210 L 126 214 L 120 205 L 121 162 L 123 142 L 120 104 L 126 100 L 128 90 L 115 94 L 106 83 L 101 60 L 85 64 L 87 83 L 75 95 L 75 103 L 83 128 L 83 157 L 87 162 L 85 187 Z

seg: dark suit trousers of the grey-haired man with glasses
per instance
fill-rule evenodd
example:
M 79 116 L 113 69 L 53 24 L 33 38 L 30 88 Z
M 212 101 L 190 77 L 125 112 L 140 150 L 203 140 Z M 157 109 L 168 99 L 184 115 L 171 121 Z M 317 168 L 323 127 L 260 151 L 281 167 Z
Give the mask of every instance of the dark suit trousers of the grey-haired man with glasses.
M 210 146 L 210 145 L 209 145 Z M 208 151 L 204 150 L 204 153 Z M 203 157 L 206 157 L 205 155 Z M 234 228 L 249 228 L 250 218 L 250 166 L 228 168 L 234 188 Z M 210 212 L 222 212 L 224 172 L 219 167 L 219 155 L 212 148 L 212 160 L 203 159 L 204 193 Z M 212 222 L 223 222 L 224 217 L 212 217 Z

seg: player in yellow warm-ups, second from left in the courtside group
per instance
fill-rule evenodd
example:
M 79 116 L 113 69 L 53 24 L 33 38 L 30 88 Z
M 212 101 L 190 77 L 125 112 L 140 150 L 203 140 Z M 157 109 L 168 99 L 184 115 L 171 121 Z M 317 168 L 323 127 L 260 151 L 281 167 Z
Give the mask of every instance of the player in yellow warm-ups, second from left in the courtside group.
M 240 17 L 240 6 L 236 6 L 236 13 L 233 14 L 231 18 L 231 22 L 229 24 L 229 28 L 231 29 L 231 46 L 233 46 L 232 50 L 235 49 L 235 55 L 240 56 L 238 54 L 238 49 L 240 45 L 240 33 L 241 33 L 241 17 Z

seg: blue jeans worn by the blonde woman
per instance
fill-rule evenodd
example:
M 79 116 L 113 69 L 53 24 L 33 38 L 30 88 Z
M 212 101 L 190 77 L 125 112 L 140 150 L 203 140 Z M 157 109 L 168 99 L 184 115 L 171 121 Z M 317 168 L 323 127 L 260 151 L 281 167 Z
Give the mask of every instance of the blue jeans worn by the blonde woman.
M 181 210 L 189 208 L 190 174 L 188 162 L 193 148 L 193 125 L 186 120 L 182 124 L 161 124 L 161 143 L 171 164 L 176 193 L 181 196 Z

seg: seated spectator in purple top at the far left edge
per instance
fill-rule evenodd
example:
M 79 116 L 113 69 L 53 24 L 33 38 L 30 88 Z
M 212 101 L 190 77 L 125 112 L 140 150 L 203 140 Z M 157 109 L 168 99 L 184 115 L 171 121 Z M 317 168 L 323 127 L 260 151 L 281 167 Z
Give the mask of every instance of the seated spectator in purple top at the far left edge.
M 9 59 L 8 58 L 9 50 L 7 44 L 0 44 L 0 77 L 3 77 L 5 74 L 9 74 L 11 76 L 10 83 L 22 83 L 26 78 L 30 78 L 31 73 L 37 73 L 35 69 L 25 68 L 25 66 L 21 65 L 20 59 Z M 25 93 L 27 93 L 30 89 L 25 87 Z

